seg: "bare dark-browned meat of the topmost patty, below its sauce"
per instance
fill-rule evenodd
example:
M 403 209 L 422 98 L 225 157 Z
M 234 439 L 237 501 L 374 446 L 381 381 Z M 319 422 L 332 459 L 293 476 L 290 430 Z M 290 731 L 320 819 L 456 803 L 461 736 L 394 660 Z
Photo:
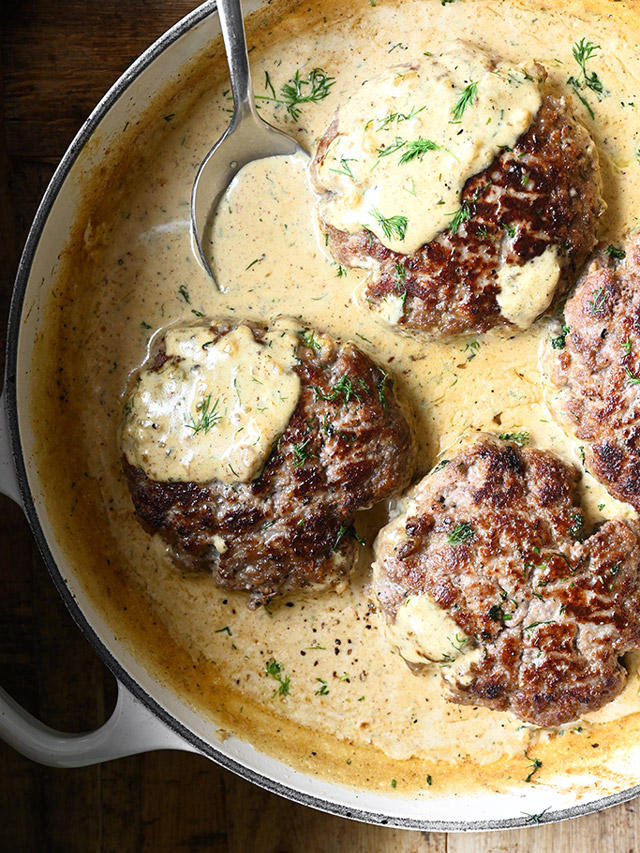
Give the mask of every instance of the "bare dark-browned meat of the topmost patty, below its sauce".
M 315 165 L 338 131 L 334 120 L 320 140 Z M 558 290 L 573 282 L 596 242 L 603 209 L 600 183 L 598 155 L 588 132 L 564 99 L 546 95 L 514 148 L 502 151 L 466 182 L 462 221 L 414 254 L 392 252 L 369 231 L 348 234 L 321 224 L 338 263 L 368 267 L 373 261 L 368 304 L 403 298 L 400 328 L 434 338 L 486 332 L 507 323 L 496 280 L 505 264 L 520 266 L 556 246 L 562 268 Z M 317 175 L 316 188 L 323 190 Z

